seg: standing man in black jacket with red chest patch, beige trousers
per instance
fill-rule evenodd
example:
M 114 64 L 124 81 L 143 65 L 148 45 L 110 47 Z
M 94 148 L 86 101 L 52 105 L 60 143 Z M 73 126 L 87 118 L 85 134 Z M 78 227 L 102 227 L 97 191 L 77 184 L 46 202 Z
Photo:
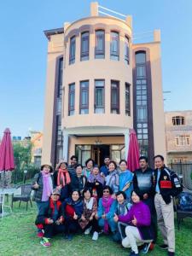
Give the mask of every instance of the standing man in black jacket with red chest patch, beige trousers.
M 177 174 L 164 165 L 164 157 L 154 156 L 154 206 L 157 212 L 157 222 L 163 236 L 164 244 L 160 247 L 168 249 L 168 255 L 175 255 L 175 228 L 172 197 L 182 192 L 182 185 Z

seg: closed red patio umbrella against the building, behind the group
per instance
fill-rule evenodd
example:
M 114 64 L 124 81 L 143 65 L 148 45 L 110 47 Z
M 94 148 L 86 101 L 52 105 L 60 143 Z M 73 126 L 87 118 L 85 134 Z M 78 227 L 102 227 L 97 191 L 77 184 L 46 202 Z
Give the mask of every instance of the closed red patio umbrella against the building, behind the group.
M 133 129 L 130 132 L 130 144 L 129 151 L 127 155 L 127 168 L 134 172 L 139 168 L 139 145 L 137 141 L 136 131 Z

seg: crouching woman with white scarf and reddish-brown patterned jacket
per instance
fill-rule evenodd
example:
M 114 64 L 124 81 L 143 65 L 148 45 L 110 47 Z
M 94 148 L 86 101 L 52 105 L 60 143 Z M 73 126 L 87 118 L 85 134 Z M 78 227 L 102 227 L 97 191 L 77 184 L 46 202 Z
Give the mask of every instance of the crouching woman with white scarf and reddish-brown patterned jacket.
M 91 189 L 84 189 L 84 212 L 79 219 L 79 225 L 82 230 L 84 230 L 84 234 L 90 234 L 90 230 L 93 231 L 92 240 L 97 240 L 99 236 L 99 225 L 96 220 L 96 212 L 97 212 L 97 203 L 96 198 L 92 197 Z

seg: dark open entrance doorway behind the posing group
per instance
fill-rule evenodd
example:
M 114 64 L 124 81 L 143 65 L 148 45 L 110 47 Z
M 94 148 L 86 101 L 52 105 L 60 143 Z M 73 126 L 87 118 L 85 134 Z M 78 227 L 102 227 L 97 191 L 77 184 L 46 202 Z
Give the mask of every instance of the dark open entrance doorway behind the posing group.
M 103 166 L 104 157 L 110 155 L 110 145 L 93 145 L 92 157 L 95 160 L 96 165 Z

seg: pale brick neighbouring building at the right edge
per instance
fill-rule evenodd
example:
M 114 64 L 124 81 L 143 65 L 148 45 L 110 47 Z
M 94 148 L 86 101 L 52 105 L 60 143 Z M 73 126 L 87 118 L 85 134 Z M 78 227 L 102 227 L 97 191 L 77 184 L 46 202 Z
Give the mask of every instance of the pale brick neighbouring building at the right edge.
M 168 163 L 192 162 L 192 110 L 166 112 Z

